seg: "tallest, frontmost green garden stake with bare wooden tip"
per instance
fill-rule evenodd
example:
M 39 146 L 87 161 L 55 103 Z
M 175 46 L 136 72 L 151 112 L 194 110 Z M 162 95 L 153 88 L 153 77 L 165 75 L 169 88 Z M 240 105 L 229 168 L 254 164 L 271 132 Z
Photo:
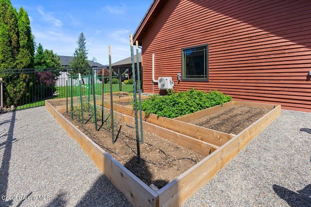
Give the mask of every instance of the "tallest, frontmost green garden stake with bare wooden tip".
M 140 162 L 140 149 L 139 149 L 139 133 L 138 133 L 138 115 L 137 115 L 137 97 L 136 97 L 136 75 L 135 75 L 135 63 L 134 63 L 134 48 L 133 48 L 133 36 L 130 34 L 131 43 L 131 59 L 132 59 L 132 73 L 133 73 L 133 94 L 134 94 L 134 109 L 135 109 L 135 127 L 136 127 L 136 143 L 137 143 L 137 158 Z

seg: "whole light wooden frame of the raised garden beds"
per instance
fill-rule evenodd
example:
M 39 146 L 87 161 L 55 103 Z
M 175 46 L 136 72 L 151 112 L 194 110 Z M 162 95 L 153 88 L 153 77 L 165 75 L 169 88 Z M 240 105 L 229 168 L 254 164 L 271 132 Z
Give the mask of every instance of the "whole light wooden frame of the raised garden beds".
M 182 205 L 196 191 L 201 189 L 212 179 L 225 164 L 233 159 L 247 143 L 273 122 L 281 113 L 280 105 L 231 101 L 223 106 L 215 106 L 175 119 L 167 119 L 151 114 L 143 122 L 144 130 L 151 131 L 163 138 L 207 156 L 157 191 L 143 183 L 136 175 L 132 174 L 77 127 L 71 124 L 62 115 L 62 113 L 66 112 L 66 106 L 57 107 L 58 109 L 55 109 L 49 101 L 50 100 L 45 101 L 45 106 L 52 113 L 53 117 L 69 135 L 80 144 L 99 170 L 135 207 L 175 207 Z M 233 104 L 269 108 L 271 111 L 237 135 L 226 134 L 211 129 L 207 129 L 207 131 L 209 131 L 208 134 L 201 134 L 206 133 L 206 131 L 201 131 L 203 127 L 185 123 L 188 119 L 200 116 L 199 114 L 206 115 L 214 113 L 215 111 L 224 110 Z M 123 121 L 135 124 L 135 118 L 131 114 L 134 113 L 133 109 L 116 103 L 114 104 L 114 110 L 120 111 L 121 109 L 123 112 L 116 112 L 116 116 L 120 117 Z M 108 109 L 105 110 L 109 112 Z M 177 129 L 173 131 L 168 128 Z

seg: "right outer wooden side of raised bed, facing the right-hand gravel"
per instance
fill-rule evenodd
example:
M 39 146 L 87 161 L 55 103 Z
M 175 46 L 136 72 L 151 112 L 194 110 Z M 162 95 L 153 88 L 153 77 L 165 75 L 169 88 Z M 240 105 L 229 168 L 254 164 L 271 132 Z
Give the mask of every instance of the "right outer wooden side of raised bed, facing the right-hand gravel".
M 158 191 L 159 206 L 180 206 L 211 180 L 242 148 L 268 126 L 281 112 L 281 107 L 261 117 L 215 152 Z

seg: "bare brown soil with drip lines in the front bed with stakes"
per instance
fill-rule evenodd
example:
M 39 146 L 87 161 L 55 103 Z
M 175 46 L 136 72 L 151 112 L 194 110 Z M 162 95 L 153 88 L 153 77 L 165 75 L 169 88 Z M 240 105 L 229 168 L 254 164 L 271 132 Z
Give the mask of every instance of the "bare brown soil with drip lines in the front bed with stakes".
M 70 113 L 65 112 L 63 115 L 148 186 L 154 184 L 160 189 L 205 158 L 190 149 L 143 130 L 144 143 L 140 143 L 141 161 L 138 163 L 135 126 L 117 120 L 115 143 L 112 144 L 111 128 L 107 126 L 110 125 L 109 122 L 111 123 L 110 118 L 104 125 L 106 129 L 101 127 L 102 121 L 99 120 L 101 128 L 96 131 L 94 123 L 87 121 L 88 117 L 85 118 L 87 123 L 82 125 L 77 119 L 71 120 Z

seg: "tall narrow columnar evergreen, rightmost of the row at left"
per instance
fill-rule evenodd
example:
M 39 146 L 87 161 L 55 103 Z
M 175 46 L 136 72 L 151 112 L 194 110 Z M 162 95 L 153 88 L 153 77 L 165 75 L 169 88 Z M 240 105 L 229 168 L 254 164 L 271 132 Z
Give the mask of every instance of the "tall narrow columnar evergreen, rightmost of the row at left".
M 21 7 L 18 12 L 19 52 L 17 68 L 31 68 L 34 66 L 34 38 L 31 34 L 30 21 L 27 12 Z

